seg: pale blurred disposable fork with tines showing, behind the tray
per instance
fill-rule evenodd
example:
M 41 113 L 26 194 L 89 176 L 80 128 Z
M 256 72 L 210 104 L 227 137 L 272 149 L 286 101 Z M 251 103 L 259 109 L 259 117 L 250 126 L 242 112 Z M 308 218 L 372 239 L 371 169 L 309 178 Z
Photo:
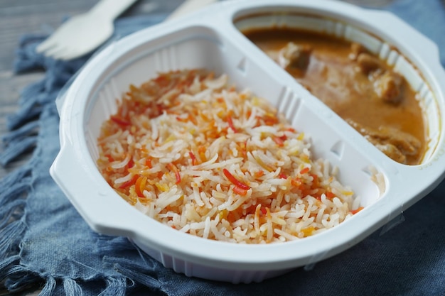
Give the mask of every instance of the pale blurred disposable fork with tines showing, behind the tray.
M 136 0 L 101 0 L 90 11 L 65 21 L 36 51 L 60 60 L 90 53 L 113 33 L 113 21 Z

